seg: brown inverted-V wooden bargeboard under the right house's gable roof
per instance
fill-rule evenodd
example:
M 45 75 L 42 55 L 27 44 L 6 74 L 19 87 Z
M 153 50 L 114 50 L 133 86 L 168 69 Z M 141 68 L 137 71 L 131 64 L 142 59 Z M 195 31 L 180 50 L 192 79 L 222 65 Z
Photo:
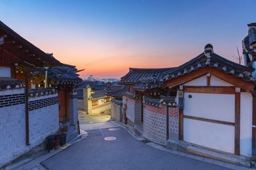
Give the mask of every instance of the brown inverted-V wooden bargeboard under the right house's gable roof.
M 220 71 L 214 67 L 202 67 L 202 68 L 200 68 L 196 71 L 193 71 L 191 73 L 184 74 L 184 76 L 172 78 L 171 80 L 164 82 L 164 87 L 175 87 L 177 85 L 186 83 L 195 78 L 203 76 L 207 73 L 210 73 L 211 75 L 214 75 L 214 76 L 220 78 L 221 80 L 226 81 L 226 82 L 228 82 L 236 87 L 239 87 L 243 90 L 252 91 L 255 87 L 254 83 L 252 83 L 250 81 L 244 81 L 241 78 L 232 76 L 232 74 L 227 74 L 227 73 Z

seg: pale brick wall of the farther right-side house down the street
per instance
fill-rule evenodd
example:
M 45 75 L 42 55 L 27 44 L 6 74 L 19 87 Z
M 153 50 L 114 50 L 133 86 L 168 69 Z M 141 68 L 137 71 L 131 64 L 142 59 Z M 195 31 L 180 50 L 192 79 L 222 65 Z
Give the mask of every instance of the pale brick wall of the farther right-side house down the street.
M 126 117 L 134 124 L 141 124 L 141 99 L 123 96 L 123 103 L 123 107 L 126 107 Z

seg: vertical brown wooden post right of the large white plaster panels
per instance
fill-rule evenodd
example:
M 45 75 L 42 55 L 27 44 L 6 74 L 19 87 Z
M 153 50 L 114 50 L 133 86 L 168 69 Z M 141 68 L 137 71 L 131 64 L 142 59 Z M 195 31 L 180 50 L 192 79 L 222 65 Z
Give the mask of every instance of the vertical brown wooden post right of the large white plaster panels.
M 240 103 L 241 94 L 235 95 L 235 154 L 240 155 Z

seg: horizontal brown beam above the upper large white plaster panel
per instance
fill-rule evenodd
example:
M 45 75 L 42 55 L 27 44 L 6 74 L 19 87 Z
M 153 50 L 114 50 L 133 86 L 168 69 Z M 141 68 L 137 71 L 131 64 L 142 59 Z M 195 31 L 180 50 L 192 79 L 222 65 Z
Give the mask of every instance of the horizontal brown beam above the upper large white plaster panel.
M 184 86 L 184 92 L 208 94 L 235 94 L 235 87 Z

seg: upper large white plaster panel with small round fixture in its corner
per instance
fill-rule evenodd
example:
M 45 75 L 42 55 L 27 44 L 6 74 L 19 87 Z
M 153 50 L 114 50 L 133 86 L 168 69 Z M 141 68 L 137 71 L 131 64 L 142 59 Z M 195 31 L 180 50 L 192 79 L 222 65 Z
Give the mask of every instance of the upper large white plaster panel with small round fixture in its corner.
M 188 97 L 189 94 L 192 98 Z M 185 92 L 184 115 L 234 122 L 235 95 Z

